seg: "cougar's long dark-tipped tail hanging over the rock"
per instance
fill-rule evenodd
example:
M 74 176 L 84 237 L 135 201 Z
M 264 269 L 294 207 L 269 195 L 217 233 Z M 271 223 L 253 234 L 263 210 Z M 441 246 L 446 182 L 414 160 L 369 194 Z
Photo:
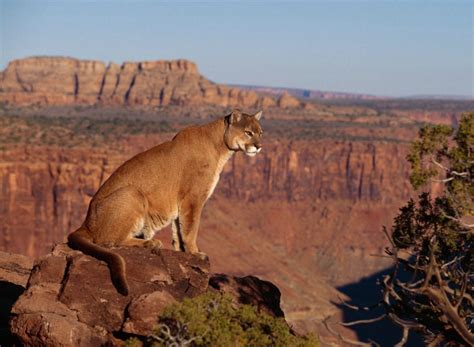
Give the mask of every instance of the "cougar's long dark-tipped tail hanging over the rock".
M 117 291 L 122 295 L 128 295 L 125 261 L 120 255 L 93 243 L 88 230 L 84 226 L 69 234 L 68 245 L 73 249 L 105 261 L 109 266 L 110 277 Z

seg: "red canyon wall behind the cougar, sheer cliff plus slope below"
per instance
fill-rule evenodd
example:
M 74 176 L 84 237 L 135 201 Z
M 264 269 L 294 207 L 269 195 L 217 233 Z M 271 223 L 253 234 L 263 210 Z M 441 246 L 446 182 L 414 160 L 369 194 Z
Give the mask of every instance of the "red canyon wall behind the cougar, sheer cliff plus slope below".
M 83 221 L 91 196 L 124 160 L 172 134 L 120 145 L 0 152 L 0 250 L 38 256 Z M 282 291 L 302 331 L 324 329 L 334 297 L 321 278 L 349 283 L 388 266 L 382 225 L 410 196 L 406 147 L 335 140 L 267 140 L 227 163 L 204 209 L 200 248 L 213 272 L 254 274 Z M 157 237 L 170 247 L 170 230 Z M 334 311 L 332 311 L 334 312 Z

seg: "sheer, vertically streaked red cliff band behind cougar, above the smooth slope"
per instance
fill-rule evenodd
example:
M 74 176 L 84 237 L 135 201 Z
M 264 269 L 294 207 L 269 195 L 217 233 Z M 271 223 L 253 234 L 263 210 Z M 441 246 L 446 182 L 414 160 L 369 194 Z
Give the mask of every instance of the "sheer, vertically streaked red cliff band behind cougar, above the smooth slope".
M 162 141 L 150 138 L 146 145 Z M 224 167 L 214 196 L 256 203 L 275 201 L 275 205 L 320 200 L 318 206 L 327 206 L 329 212 L 331 206 L 343 202 L 373 204 L 376 206 L 368 219 L 374 221 L 371 231 L 378 234 L 380 225 L 392 218 L 381 220 L 383 207 L 400 206 L 412 193 L 407 179 L 409 164 L 404 159 L 406 147 L 337 141 L 269 141 L 265 146 L 255 158 L 235 155 Z M 0 191 L 0 250 L 40 256 L 54 242 L 63 242 L 84 220 L 100 184 L 137 152 L 136 147 L 132 145 L 123 154 L 40 148 L 0 153 L 4 187 Z M 337 230 L 335 226 L 326 232 Z

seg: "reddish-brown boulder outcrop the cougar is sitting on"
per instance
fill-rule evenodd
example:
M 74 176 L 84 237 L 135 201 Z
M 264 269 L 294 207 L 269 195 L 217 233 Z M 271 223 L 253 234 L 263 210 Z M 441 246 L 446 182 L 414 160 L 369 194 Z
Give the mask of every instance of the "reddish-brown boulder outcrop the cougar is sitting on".
M 105 263 L 60 244 L 33 268 L 12 308 L 12 334 L 28 346 L 117 345 L 131 335 L 151 334 L 165 306 L 216 289 L 232 294 L 245 288 L 246 299 L 235 295 L 237 303 L 259 303 L 260 310 L 283 316 L 279 291 L 269 282 L 219 275 L 226 287 L 208 289 L 209 262 L 199 257 L 130 247 L 115 251 L 127 264 L 128 296 L 117 293 Z

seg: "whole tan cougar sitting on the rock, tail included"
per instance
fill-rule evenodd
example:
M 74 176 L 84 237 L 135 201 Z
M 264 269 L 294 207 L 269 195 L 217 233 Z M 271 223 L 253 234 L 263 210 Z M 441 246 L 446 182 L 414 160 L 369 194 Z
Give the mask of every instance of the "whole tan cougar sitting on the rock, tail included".
M 237 151 L 260 151 L 260 116 L 235 110 L 186 128 L 122 164 L 92 198 L 84 223 L 68 237 L 69 245 L 107 262 L 124 295 L 129 290 L 125 262 L 105 247 L 160 247 L 153 236 L 173 223 L 174 248 L 205 257 L 196 243 L 202 209 L 230 157 Z

